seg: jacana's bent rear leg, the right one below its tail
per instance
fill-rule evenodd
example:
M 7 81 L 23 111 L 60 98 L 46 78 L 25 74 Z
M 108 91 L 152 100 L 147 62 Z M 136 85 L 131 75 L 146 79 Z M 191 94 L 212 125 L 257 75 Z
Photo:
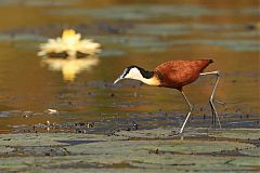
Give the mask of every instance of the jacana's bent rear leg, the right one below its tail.
M 217 90 L 217 86 L 218 86 L 218 83 L 219 83 L 219 80 L 220 80 L 220 72 L 219 71 L 211 71 L 211 72 L 203 72 L 203 74 L 200 74 L 200 76 L 206 76 L 206 75 L 216 75 L 217 76 L 217 79 L 216 79 L 216 82 L 214 82 L 214 86 L 213 86 L 212 93 L 211 93 L 210 98 L 209 98 L 209 105 L 210 105 L 211 111 L 212 111 L 212 123 L 216 124 L 216 118 L 217 118 L 218 122 L 219 122 L 219 127 L 221 129 L 219 115 L 217 114 L 217 110 L 216 110 L 214 105 L 213 105 L 213 96 L 214 96 L 214 92 Z

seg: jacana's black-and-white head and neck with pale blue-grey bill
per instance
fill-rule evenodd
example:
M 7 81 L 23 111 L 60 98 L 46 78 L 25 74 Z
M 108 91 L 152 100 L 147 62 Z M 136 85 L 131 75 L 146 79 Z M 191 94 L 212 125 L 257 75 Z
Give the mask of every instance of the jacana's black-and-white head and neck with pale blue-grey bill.
M 159 85 L 159 81 L 154 74 L 155 74 L 154 71 L 148 71 L 138 66 L 129 66 L 115 80 L 114 84 L 116 84 L 122 79 L 134 79 L 150 85 Z

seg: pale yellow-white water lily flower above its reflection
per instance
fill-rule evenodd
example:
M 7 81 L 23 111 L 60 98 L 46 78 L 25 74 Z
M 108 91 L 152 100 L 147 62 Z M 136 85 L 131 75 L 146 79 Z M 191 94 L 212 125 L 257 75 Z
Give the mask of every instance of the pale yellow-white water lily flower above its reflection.
M 93 42 L 91 39 L 81 39 L 80 34 L 76 34 L 73 29 L 63 31 L 62 37 L 49 39 L 47 43 L 40 44 L 38 56 L 55 55 L 66 53 L 68 57 L 77 57 L 77 53 L 84 55 L 93 55 L 99 53 L 100 43 Z

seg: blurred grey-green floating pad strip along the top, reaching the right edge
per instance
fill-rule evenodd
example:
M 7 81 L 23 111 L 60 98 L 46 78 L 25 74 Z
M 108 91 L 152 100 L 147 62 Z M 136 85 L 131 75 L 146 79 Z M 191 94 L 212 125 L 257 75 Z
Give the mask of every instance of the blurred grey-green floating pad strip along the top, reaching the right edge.
M 51 15 L 84 15 L 94 18 L 145 21 L 160 17 L 200 17 L 200 16 L 226 16 L 226 15 L 258 15 L 257 8 L 224 9 L 209 8 L 206 5 L 178 5 L 178 4 L 131 4 L 110 5 L 96 9 L 58 9 L 50 10 Z

